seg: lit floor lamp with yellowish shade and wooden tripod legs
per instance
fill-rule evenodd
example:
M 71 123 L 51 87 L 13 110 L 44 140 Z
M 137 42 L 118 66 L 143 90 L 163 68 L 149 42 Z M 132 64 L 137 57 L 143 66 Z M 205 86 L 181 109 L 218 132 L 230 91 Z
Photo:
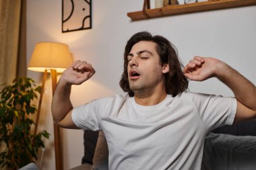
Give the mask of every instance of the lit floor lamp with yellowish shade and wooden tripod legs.
M 34 48 L 30 58 L 28 69 L 31 71 L 44 72 L 42 79 L 42 91 L 44 90 L 44 83 L 47 73 L 51 73 L 53 94 L 57 86 L 57 73 L 62 73 L 67 67 L 71 65 L 72 57 L 69 52 L 69 47 L 66 44 L 57 42 L 38 42 Z M 40 107 L 42 102 L 41 92 L 38 114 L 36 118 L 36 126 L 34 133 L 36 133 L 38 120 L 40 116 Z M 55 166 L 56 170 L 63 170 L 63 149 L 61 143 L 61 128 L 53 124 L 54 141 L 55 141 Z

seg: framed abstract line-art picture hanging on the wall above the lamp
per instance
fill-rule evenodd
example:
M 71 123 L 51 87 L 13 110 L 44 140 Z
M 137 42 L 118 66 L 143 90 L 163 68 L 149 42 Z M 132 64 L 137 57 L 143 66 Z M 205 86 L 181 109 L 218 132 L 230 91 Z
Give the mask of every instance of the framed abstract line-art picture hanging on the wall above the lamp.
M 62 32 L 92 28 L 92 0 L 62 0 Z

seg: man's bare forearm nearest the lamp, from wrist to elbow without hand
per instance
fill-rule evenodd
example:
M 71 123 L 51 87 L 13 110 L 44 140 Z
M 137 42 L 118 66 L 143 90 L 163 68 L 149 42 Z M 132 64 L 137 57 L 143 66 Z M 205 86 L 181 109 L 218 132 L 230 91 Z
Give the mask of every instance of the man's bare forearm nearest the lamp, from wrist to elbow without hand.
M 59 80 L 52 101 L 52 114 L 55 122 L 61 122 L 73 109 L 70 101 L 71 85 Z

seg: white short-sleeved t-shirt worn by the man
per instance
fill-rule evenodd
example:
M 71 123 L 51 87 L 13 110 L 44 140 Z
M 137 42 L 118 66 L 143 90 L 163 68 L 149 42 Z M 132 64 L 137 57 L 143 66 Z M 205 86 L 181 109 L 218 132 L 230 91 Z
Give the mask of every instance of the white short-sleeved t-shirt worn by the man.
M 116 95 L 74 108 L 75 125 L 103 130 L 109 169 L 201 169 L 208 132 L 232 124 L 236 99 L 185 92 L 161 103 L 138 105 Z

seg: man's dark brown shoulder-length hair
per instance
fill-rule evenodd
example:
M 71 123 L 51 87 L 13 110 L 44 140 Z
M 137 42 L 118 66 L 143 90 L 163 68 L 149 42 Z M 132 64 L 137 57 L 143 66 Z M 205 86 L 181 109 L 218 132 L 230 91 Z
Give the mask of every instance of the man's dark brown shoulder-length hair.
M 172 95 L 173 97 L 177 94 L 185 91 L 189 85 L 189 81 L 183 75 L 183 65 L 178 57 L 177 49 L 170 43 L 166 38 L 162 36 L 152 36 L 149 32 L 138 32 L 134 34 L 127 42 L 125 46 L 124 53 L 124 66 L 123 74 L 119 85 L 123 91 L 128 92 L 130 97 L 134 96 L 134 92 L 129 87 L 127 66 L 128 60 L 127 56 L 131 52 L 131 48 L 134 44 L 141 41 L 155 42 L 156 52 L 160 56 L 160 65 L 168 64 L 170 71 L 165 73 L 165 87 L 166 93 Z

